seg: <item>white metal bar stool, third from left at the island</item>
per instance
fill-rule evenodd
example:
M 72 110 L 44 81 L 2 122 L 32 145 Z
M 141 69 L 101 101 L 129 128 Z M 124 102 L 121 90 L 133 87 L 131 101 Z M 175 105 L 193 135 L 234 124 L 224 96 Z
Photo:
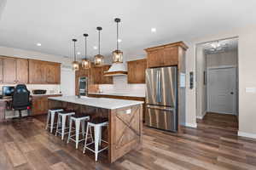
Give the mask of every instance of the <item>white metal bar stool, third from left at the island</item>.
M 82 142 L 84 139 L 79 139 L 79 134 L 80 134 L 80 125 L 82 122 L 82 134 L 84 137 L 84 127 L 85 127 L 85 122 L 90 120 L 90 116 L 88 115 L 73 115 L 71 116 L 70 122 L 69 122 L 69 132 L 68 132 L 68 139 L 67 139 L 67 144 L 69 143 L 69 140 L 73 140 L 76 143 L 76 149 L 79 148 L 79 142 Z M 75 122 L 75 134 L 71 135 L 72 131 L 72 123 Z M 72 137 L 75 136 L 75 139 Z M 90 130 L 90 137 L 92 138 L 91 130 Z

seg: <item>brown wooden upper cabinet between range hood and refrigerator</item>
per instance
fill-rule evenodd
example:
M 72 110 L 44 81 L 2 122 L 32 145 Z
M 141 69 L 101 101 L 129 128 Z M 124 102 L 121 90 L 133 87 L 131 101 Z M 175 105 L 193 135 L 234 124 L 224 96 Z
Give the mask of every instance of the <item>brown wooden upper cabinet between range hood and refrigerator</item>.
M 128 83 L 145 83 L 147 59 L 138 59 L 127 62 Z

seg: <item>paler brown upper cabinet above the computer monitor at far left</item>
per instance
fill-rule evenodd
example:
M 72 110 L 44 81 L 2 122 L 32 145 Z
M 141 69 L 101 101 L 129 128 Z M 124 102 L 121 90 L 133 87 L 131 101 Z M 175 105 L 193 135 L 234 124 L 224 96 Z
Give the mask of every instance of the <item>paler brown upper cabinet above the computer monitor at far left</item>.
M 17 59 L 5 57 L 1 59 L 3 71 L 3 83 L 27 83 L 28 82 L 28 61 L 27 59 Z

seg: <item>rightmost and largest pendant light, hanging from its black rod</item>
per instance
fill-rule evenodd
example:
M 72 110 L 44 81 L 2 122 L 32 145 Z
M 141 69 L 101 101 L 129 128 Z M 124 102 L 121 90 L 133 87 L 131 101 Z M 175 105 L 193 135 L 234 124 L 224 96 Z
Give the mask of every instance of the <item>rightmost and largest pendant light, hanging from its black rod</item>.
M 113 63 L 123 63 L 123 52 L 119 50 L 119 18 L 114 19 L 116 22 L 116 50 L 112 52 Z

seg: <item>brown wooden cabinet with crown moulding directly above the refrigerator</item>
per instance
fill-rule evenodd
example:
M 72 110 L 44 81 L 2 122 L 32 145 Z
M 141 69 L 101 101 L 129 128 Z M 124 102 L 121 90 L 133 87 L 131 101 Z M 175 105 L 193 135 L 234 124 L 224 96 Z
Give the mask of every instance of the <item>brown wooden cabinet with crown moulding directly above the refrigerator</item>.
M 179 55 L 182 55 L 183 50 L 187 48 L 183 42 L 174 42 L 154 48 L 146 48 L 145 50 L 148 54 L 147 66 L 148 68 L 154 68 L 178 65 Z

